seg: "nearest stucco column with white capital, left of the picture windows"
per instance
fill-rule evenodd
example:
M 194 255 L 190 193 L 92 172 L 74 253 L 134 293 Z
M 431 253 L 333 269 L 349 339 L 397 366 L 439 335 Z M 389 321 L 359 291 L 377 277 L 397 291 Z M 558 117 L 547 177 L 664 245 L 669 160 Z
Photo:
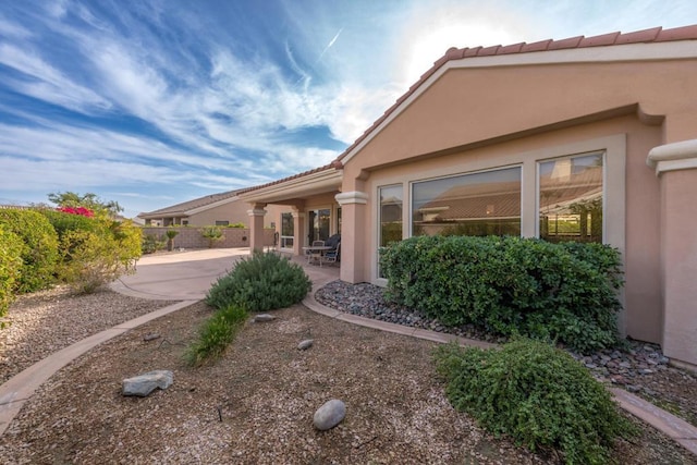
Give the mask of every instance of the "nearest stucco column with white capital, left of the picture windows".
M 370 233 L 366 231 L 368 194 L 352 191 L 337 194 L 341 205 L 341 271 L 342 281 L 359 283 L 368 281 L 365 252 Z

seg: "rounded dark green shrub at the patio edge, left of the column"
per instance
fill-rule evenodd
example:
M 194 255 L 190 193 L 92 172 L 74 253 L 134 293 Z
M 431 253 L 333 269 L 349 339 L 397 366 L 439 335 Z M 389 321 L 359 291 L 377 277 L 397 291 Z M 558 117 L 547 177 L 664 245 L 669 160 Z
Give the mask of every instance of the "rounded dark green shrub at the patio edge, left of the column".
M 206 302 L 215 308 L 237 305 L 267 311 L 301 302 L 311 286 L 299 265 L 272 252 L 254 250 L 212 285 Z

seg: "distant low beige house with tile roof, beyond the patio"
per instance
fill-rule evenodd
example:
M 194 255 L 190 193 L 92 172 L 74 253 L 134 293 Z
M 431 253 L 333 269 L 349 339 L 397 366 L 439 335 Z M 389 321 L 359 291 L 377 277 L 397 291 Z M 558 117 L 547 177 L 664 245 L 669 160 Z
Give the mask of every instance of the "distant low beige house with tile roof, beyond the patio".
M 146 225 L 230 225 L 244 223 L 249 225 L 249 205 L 240 201 L 237 194 L 241 191 L 230 191 L 220 194 L 207 195 L 171 207 L 139 213 L 138 218 L 145 220 Z M 271 228 L 271 221 L 265 224 Z

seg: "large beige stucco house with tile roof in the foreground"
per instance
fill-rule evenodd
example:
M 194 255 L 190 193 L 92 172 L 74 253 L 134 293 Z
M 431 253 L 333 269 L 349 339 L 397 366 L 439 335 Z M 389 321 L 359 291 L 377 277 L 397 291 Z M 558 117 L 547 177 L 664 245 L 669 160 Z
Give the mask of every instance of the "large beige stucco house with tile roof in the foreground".
M 333 163 L 240 199 L 255 248 L 267 206 L 296 255 L 341 232 L 351 283 L 439 221 L 601 241 L 622 331 L 697 366 L 697 26 L 450 49 Z

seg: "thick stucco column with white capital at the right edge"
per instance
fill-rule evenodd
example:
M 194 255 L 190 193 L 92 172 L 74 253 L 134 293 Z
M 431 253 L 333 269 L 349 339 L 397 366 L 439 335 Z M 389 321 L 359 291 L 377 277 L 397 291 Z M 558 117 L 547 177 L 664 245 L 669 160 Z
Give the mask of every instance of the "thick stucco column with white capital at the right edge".
M 661 185 L 663 353 L 697 367 L 697 139 L 656 147 Z

